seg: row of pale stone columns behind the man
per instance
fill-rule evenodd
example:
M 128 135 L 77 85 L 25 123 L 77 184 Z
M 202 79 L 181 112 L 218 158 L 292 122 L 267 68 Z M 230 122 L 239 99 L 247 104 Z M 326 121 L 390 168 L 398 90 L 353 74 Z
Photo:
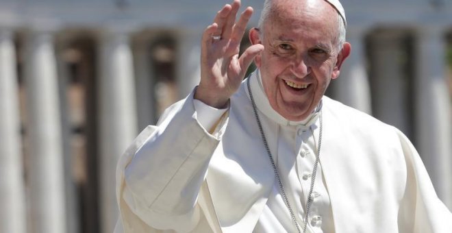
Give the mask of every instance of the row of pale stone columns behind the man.
M 444 32 L 440 28 L 425 27 L 414 34 L 416 60 L 412 67 L 415 75 L 412 91 L 416 99 L 410 100 L 405 95 L 409 90 L 403 89 L 405 79 L 400 79 L 404 71 L 397 60 L 392 60 L 399 57 L 399 36 L 386 34 L 371 39 L 371 44 L 372 41 L 389 43 L 375 51 L 375 64 L 370 65 L 376 66 L 377 72 L 369 75 L 366 28 L 348 29 L 347 40 L 352 43 L 353 51 L 342 66 L 340 78 L 334 81 L 334 98 L 370 114 L 378 112 L 382 120 L 412 134 L 438 195 L 452 208 L 452 125 L 450 93 L 444 73 Z M 153 72 L 146 46 L 149 38 L 134 40 L 138 41 L 138 45 L 134 45 L 132 34 L 125 29 L 109 28 L 97 36 L 102 232 L 112 232 L 117 219 L 116 161 L 139 128 L 153 123 L 150 118 L 155 114 L 151 100 Z M 63 165 L 66 138 L 62 133 L 61 106 L 64 103 L 60 103 L 58 94 L 60 77 L 54 35 L 55 31 L 25 33 L 23 82 L 27 114 L 24 114 L 26 140 L 23 141 L 14 31 L 0 30 L 0 232 L 71 232 L 66 217 L 68 200 L 64 195 L 64 177 L 70 171 Z M 200 35 L 201 30 L 175 33 L 179 38 L 175 61 L 179 97 L 190 93 L 199 82 Z M 406 113 L 410 101 L 414 103 L 413 116 Z M 413 125 L 407 125 L 410 118 Z M 22 143 L 29 145 L 25 147 L 29 158 L 26 169 Z M 27 173 L 26 185 L 24 173 Z

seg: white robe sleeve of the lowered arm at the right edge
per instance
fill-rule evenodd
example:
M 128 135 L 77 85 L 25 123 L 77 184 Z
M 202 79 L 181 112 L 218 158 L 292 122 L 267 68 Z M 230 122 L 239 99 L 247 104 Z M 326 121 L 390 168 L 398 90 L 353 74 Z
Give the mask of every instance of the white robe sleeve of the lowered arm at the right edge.
M 407 162 L 407 186 L 401 212 L 400 232 L 451 233 L 452 214 L 436 195 L 418 152 L 397 130 Z

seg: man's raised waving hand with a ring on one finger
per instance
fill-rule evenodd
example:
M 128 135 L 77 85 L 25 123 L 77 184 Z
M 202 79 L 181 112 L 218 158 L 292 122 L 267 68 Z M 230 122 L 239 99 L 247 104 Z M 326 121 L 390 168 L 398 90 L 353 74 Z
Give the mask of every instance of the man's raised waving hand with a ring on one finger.
M 248 7 L 236 22 L 240 0 L 225 5 L 215 16 L 214 23 L 203 32 L 201 40 L 201 82 L 194 94 L 214 108 L 223 108 L 236 93 L 253 58 L 264 49 L 252 45 L 238 56 L 240 40 L 253 14 Z

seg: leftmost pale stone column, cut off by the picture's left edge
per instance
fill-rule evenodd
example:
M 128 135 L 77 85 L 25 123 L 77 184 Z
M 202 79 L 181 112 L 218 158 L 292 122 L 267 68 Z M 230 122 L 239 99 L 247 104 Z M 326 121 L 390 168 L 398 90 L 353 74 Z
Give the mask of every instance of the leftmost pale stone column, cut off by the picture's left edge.
M 12 33 L 0 32 L 0 232 L 25 233 L 25 190 Z

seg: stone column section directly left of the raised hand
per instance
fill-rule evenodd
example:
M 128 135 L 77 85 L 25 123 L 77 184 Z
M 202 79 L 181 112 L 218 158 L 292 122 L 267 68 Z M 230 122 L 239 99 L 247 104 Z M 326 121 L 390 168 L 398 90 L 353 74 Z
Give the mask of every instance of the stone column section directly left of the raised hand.
M 179 32 L 177 45 L 177 87 L 185 98 L 201 79 L 201 36 L 203 30 L 188 28 Z

